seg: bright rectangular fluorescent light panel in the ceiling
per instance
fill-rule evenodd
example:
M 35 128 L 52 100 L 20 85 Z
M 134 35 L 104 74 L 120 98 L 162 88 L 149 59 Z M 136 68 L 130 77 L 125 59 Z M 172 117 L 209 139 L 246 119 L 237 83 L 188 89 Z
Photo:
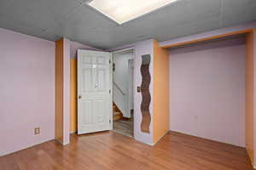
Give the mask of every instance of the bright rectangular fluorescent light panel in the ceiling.
M 119 24 L 177 0 L 92 0 L 89 5 Z

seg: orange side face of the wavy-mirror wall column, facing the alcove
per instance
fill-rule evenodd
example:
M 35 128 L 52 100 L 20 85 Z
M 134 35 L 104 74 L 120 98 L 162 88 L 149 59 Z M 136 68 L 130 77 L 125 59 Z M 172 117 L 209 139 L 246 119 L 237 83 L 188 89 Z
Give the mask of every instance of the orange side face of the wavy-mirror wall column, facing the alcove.
M 169 132 L 169 52 L 154 41 L 154 144 Z

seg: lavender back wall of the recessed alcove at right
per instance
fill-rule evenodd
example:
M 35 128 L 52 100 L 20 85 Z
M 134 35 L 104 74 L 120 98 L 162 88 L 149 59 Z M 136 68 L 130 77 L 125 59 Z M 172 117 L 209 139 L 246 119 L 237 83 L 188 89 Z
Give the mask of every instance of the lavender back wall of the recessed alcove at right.
M 170 52 L 170 128 L 245 146 L 245 39 Z

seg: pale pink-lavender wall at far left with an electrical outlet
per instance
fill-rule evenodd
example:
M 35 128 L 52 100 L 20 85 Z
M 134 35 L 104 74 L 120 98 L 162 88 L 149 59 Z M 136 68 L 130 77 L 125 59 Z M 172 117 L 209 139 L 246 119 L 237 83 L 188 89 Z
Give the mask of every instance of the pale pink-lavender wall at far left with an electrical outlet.
M 55 42 L 0 29 L 0 77 L 0 156 L 54 139 Z

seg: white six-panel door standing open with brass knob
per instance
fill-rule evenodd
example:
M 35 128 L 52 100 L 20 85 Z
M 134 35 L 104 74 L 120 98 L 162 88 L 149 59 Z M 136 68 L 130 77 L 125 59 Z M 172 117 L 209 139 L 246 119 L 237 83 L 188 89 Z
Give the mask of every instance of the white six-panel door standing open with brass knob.
M 78 51 L 78 133 L 109 130 L 108 52 Z

